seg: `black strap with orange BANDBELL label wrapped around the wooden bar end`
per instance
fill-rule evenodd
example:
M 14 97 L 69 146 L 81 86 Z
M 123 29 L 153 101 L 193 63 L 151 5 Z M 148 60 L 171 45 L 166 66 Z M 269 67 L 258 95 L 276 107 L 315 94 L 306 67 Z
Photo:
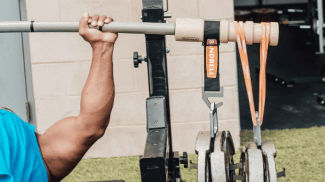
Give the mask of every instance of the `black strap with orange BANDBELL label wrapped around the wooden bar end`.
M 217 64 L 217 76 L 216 78 L 207 77 L 207 48 L 210 50 L 208 40 L 216 40 L 218 55 L 214 57 L 215 61 L 218 61 Z M 220 22 L 219 21 L 205 21 L 204 22 L 204 91 L 220 91 L 220 75 L 219 75 L 219 45 L 220 45 Z M 208 47 L 207 47 L 208 46 Z

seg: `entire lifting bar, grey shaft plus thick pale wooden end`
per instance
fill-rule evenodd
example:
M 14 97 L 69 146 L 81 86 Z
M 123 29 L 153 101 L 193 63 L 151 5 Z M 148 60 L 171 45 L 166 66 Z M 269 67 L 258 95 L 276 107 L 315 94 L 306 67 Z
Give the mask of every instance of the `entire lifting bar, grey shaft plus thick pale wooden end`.
M 110 22 L 104 24 L 103 32 L 129 34 L 175 35 L 176 41 L 204 42 L 204 19 L 177 18 L 175 24 L 142 23 L 142 22 Z M 99 29 L 97 27 L 89 28 Z M 260 23 L 246 21 L 244 23 L 246 44 L 261 43 Z M 2 21 L 0 33 L 10 32 L 78 32 L 79 22 L 34 22 L 34 21 Z M 279 40 L 279 24 L 271 22 L 269 45 L 276 46 Z M 237 42 L 233 23 L 220 21 L 220 42 Z

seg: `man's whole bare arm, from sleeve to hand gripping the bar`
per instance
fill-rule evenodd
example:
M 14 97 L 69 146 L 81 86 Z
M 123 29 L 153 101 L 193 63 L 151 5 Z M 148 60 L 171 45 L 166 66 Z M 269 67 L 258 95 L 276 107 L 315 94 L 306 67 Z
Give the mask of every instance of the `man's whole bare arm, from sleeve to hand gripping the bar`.
M 66 177 L 108 126 L 114 102 L 112 53 L 117 34 L 89 29 L 88 23 L 102 26 L 110 21 L 111 17 L 90 17 L 88 13 L 80 20 L 79 34 L 93 49 L 89 75 L 81 93 L 80 114 L 58 121 L 38 137 L 52 182 Z

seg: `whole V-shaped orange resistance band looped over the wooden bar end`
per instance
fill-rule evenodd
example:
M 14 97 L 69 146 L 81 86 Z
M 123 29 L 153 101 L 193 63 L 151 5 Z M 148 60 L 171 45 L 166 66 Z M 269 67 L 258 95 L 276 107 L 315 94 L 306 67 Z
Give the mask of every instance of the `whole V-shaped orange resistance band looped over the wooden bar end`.
M 241 62 L 244 72 L 244 80 L 246 85 L 246 91 L 248 95 L 250 114 L 253 121 L 254 126 L 257 126 L 257 120 L 255 117 L 255 106 L 254 106 L 254 98 L 253 98 L 253 90 L 251 86 L 250 72 L 249 72 L 249 64 L 248 64 L 248 56 L 247 49 L 245 43 L 245 33 L 244 33 L 244 23 L 242 21 L 239 22 L 240 26 L 238 26 L 238 22 L 235 21 L 235 31 L 237 36 L 237 44 L 239 53 L 241 56 Z M 268 49 L 268 38 L 269 38 L 269 23 L 261 23 L 262 25 L 262 39 L 260 44 L 260 72 L 259 72 L 259 118 L 260 118 L 260 126 L 263 122 L 263 114 L 264 114 L 264 106 L 265 106 L 265 69 L 266 69 L 266 57 L 267 57 L 267 49 Z

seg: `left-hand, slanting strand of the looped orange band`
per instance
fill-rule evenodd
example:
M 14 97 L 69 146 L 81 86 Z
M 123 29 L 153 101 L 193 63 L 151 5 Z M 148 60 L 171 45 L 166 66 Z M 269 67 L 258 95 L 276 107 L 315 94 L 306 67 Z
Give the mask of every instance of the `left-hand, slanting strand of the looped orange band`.
M 238 22 L 235 21 L 235 31 L 237 36 L 237 44 L 239 53 L 241 56 L 241 62 L 244 72 L 244 80 L 246 85 L 246 91 L 248 95 L 249 107 L 250 107 L 250 114 L 253 121 L 253 124 L 257 126 L 257 121 L 255 117 L 255 106 L 254 106 L 254 98 L 253 98 L 253 90 L 251 87 L 251 79 L 250 79 L 250 72 L 249 72 L 249 64 L 248 64 L 248 56 L 246 50 L 246 43 L 245 43 L 245 33 L 244 33 L 244 23 L 240 22 L 240 27 L 238 26 Z

